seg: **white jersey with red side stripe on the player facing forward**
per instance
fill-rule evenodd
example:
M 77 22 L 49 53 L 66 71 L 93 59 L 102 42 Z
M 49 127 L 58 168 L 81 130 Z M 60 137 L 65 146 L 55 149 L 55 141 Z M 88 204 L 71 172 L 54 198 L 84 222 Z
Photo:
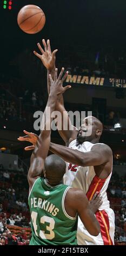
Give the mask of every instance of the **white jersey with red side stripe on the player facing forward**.
M 103 144 L 103 143 L 97 143 Z M 76 139 L 69 144 L 69 148 L 77 149 L 83 153 L 88 152 L 96 145 L 90 142 L 84 142 L 81 145 L 76 146 Z M 102 196 L 102 205 L 98 210 L 108 209 L 110 204 L 107 198 L 107 188 L 111 178 L 111 173 L 107 179 L 100 179 L 96 176 L 94 166 L 81 167 L 71 163 L 66 163 L 66 173 L 64 175 L 64 184 L 76 188 L 80 188 L 87 194 L 89 200 L 92 199 L 96 192 L 100 192 Z M 112 166 L 111 166 L 112 171 Z

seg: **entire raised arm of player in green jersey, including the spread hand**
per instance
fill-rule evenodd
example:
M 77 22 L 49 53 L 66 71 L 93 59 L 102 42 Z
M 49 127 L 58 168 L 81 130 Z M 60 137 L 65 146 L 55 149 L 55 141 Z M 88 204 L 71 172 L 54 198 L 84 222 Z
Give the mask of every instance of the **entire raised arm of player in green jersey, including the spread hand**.
M 42 124 L 41 124 L 42 131 L 37 139 L 35 149 L 31 155 L 31 164 L 28 172 L 28 181 L 29 181 L 30 187 L 34 183 L 35 179 L 42 175 L 44 160 L 48 155 L 48 150 L 50 145 L 51 122 L 52 122 L 51 114 L 55 110 L 57 95 L 64 93 L 65 90 L 70 88 L 69 86 L 64 88 L 62 87 L 62 81 L 61 81 L 62 75 L 63 75 L 63 72 L 61 71 L 61 74 L 57 78 L 57 69 L 55 71 L 54 81 L 52 80 L 52 77 L 50 75 L 51 89 L 50 89 L 47 106 L 45 108 L 43 118 L 42 118 Z

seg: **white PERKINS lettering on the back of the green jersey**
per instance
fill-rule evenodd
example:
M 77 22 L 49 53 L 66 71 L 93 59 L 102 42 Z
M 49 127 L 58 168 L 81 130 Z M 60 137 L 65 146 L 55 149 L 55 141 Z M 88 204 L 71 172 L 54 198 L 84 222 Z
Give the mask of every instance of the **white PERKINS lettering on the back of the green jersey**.
M 51 204 L 48 200 L 42 200 L 42 198 L 31 198 L 30 204 L 31 208 L 41 208 L 45 211 L 50 212 L 52 216 L 56 216 L 59 212 L 59 209 L 54 204 Z

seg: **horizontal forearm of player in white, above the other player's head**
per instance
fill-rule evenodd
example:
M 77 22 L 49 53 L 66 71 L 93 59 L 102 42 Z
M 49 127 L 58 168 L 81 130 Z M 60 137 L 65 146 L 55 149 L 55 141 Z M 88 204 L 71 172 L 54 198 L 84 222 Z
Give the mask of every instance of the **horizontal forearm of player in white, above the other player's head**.
M 77 164 L 78 166 L 82 166 L 83 164 L 84 153 L 78 150 L 70 149 L 55 143 L 50 143 L 49 150 L 52 153 L 62 157 L 65 162 Z

